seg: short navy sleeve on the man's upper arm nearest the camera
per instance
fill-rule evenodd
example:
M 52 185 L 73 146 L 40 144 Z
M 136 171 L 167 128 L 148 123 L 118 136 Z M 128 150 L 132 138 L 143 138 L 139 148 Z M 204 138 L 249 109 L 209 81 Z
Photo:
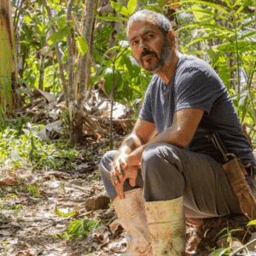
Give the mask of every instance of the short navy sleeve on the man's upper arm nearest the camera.
M 175 112 L 183 108 L 200 108 L 209 114 L 218 97 L 218 83 L 195 67 L 183 70 L 174 86 Z

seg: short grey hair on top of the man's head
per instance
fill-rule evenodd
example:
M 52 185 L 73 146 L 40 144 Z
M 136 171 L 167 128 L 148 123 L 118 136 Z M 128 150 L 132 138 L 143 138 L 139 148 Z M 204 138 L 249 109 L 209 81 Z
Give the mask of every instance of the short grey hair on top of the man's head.
M 128 31 L 129 26 L 135 22 L 135 21 L 148 21 L 160 29 L 161 32 L 163 32 L 164 35 L 166 35 L 169 30 L 172 30 L 172 25 L 170 20 L 166 18 L 165 15 L 161 15 L 160 13 L 156 13 L 150 9 L 143 9 L 137 11 L 135 14 L 131 15 L 131 17 L 128 20 L 127 26 L 126 26 L 126 37 L 128 38 Z

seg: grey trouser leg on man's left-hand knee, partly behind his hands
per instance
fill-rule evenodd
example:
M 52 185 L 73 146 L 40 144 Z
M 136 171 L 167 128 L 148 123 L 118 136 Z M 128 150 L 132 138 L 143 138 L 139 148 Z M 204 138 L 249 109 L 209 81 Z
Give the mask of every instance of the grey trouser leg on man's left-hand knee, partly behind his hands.
M 105 189 L 111 201 L 113 201 L 117 196 L 116 190 L 110 178 L 111 166 L 113 164 L 113 158 L 116 153 L 117 151 L 113 150 L 113 151 L 108 151 L 108 153 L 104 154 L 99 166 L 99 172 L 102 176 Z M 138 175 L 137 175 L 136 186 L 132 187 L 129 181 L 126 180 L 124 184 L 124 192 L 129 191 L 131 189 L 137 189 L 137 188 L 143 188 L 143 177 L 140 171 L 138 172 Z

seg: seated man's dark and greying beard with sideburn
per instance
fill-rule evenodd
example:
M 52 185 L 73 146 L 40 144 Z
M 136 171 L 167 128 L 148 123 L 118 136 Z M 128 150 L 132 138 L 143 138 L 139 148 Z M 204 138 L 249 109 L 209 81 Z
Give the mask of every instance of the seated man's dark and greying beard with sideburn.
M 144 50 L 142 55 L 140 56 L 140 60 L 137 60 L 137 63 L 140 67 L 143 67 L 143 69 L 147 70 L 151 73 L 159 73 L 161 69 L 169 65 L 173 59 L 173 51 L 172 44 L 169 41 L 169 38 L 166 38 L 165 44 L 162 46 L 162 49 L 160 50 L 160 55 L 158 56 L 154 50 Z M 147 62 L 148 65 L 143 65 L 143 58 L 145 56 L 148 56 Z M 153 62 L 152 58 L 156 58 L 157 61 Z

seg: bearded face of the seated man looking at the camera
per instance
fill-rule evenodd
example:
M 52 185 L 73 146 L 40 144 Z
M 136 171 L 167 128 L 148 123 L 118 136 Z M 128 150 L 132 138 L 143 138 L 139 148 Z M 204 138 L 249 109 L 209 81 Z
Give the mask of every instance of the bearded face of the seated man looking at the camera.
M 147 71 L 158 73 L 172 61 L 170 39 L 154 24 L 148 21 L 131 23 L 128 39 L 138 64 Z

